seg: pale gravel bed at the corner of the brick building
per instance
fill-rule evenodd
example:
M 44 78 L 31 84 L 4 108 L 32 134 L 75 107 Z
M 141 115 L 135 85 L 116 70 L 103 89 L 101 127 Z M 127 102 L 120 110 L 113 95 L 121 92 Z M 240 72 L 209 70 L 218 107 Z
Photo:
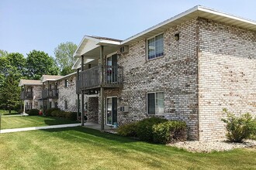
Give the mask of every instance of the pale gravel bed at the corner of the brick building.
M 181 141 L 168 145 L 183 148 L 191 152 L 209 153 L 211 151 L 230 151 L 234 148 L 253 147 L 256 146 L 256 141 L 246 140 L 243 143 L 234 143 L 228 141 Z

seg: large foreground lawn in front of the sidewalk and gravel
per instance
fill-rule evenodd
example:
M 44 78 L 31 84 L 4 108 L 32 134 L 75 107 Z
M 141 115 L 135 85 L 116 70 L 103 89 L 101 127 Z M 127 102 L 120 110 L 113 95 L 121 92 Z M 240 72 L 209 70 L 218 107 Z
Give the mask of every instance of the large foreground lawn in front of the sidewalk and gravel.
M 88 128 L 0 134 L 0 169 L 256 169 L 256 148 L 189 153 Z

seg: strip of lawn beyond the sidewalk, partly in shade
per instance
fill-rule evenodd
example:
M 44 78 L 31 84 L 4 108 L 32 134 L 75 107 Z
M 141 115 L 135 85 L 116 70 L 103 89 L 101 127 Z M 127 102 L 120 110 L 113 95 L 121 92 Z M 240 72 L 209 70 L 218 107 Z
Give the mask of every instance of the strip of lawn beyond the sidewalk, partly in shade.
M 43 117 L 43 116 L 17 116 L 2 117 L 1 129 L 38 127 L 56 124 L 74 124 L 77 121 L 70 121 L 59 117 Z

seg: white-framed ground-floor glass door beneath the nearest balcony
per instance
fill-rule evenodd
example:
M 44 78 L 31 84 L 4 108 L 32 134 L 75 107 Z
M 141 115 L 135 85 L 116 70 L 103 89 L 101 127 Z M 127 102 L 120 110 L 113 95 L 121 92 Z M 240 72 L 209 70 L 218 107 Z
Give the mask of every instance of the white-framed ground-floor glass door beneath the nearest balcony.
M 106 113 L 106 124 L 116 125 L 117 124 L 117 97 L 107 98 L 107 113 Z

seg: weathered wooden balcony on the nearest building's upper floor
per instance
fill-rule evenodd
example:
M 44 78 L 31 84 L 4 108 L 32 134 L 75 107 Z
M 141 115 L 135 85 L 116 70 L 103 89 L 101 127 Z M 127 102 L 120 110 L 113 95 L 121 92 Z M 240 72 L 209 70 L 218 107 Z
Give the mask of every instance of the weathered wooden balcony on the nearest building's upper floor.
M 80 90 L 92 90 L 99 87 L 119 88 L 123 87 L 123 67 L 122 66 L 104 66 L 102 82 L 102 66 L 95 66 L 91 69 L 81 71 L 77 88 Z M 80 82 L 79 82 L 80 81 Z M 79 89 L 78 89 L 79 90 Z M 78 92 L 77 90 L 77 92 Z

